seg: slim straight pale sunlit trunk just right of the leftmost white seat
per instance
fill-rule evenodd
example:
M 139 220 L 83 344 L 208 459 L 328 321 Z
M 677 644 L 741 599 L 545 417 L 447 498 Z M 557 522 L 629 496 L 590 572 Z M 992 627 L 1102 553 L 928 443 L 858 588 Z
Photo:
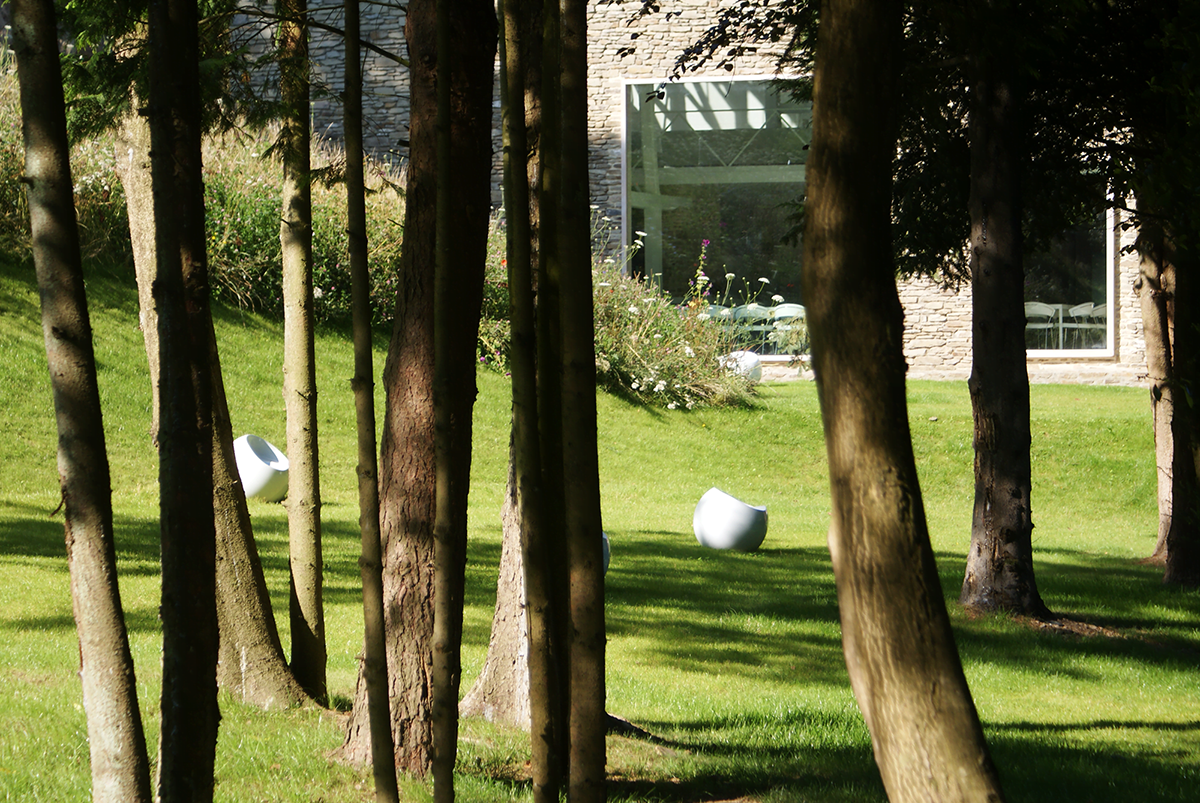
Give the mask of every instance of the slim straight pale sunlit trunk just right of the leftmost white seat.
M 283 400 L 288 438 L 288 564 L 292 671 L 324 701 L 325 612 L 317 451 L 317 360 L 312 296 L 312 121 L 308 103 L 307 0 L 278 0 L 283 121 Z

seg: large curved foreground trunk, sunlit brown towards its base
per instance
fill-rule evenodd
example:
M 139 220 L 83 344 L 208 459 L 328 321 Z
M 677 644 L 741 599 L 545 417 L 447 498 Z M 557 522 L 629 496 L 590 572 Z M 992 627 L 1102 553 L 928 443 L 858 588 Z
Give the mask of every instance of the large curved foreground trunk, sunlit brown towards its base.
M 888 799 L 978 803 L 1002 796 L 934 563 L 905 400 L 889 233 L 901 11 L 822 4 L 804 296 L 846 665 Z

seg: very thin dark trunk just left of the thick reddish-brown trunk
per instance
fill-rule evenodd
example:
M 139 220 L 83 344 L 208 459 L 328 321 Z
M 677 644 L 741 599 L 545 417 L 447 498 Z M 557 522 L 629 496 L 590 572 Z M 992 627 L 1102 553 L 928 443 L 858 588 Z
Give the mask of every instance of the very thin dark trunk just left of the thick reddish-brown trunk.
M 379 545 L 379 465 L 376 459 L 374 359 L 371 343 L 371 276 L 367 264 L 366 186 L 362 178 L 362 70 L 359 64 L 359 0 L 346 0 L 346 208 L 350 241 L 354 319 L 354 413 L 358 431 L 359 529 L 362 540 L 364 647 L 360 682 L 366 687 L 371 768 L 377 803 L 394 803 L 395 745 L 388 708 L 388 653 L 384 639 L 383 555 Z

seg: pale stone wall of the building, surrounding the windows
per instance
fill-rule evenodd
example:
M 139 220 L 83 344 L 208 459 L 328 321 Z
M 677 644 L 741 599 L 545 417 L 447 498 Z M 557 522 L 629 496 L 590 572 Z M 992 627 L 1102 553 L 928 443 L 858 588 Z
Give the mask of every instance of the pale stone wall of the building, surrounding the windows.
M 676 59 L 684 47 L 708 30 L 726 5 L 738 0 L 678 0 L 668 11 L 679 12 L 670 20 L 664 14 L 635 17 L 640 2 L 592 0 L 588 31 L 588 106 L 590 127 L 589 173 L 593 203 L 613 221 L 620 221 L 622 152 L 624 91 L 628 83 L 665 80 L 673 71 Z M 341 8 L 322 12 L 320 20 L 341 26 Z M 390 6 L 364 5 L 362 35 L 378 47 L 404 56 L 403 10 Z M 341 136 L 341 107 L 334 96 L 342 86 L 342 44 L 338 36 L 314 31 L 312 54 L 317 80 L 330 96 L 313 103 L 313 126 L 331 138 Z M 631 53 L 623 53 L 632 48 Z M 714 66 L 689 72 L 689 78 L 770 77 L 776 74 L 780 47 L 763 48 L 733 65 L 733 70 Z M 400 145 L 407 138 L 408 118 L 407 71 L 377 53 L 364 52 L 364 118 L 366 146 L 379 156 L 392 160 L 403 156 Z M 497 90 L 496 179 L 493 200 L 500 205 L 499 190 L 499 94 Z M 1115 253 L 1120 269 L 1115 280 L 1114 328 L 1115 347 L 1111 355 L 1080 359 L 1031 358 L 1031 376 L 1038 372 L 1062 378 L 1090 374 L 1103 376 L 1121 383 L 1135 383 L 1145 372 L 1145 344 L 1141 316 L 1133 290 L 1138 277 L 1136 257 L 1121 256 L 1132 233 L 1116 229 Z M 620 233 L 613 228 L 613 238 Z M 900 300 L 905 307 L 905 353 L 912 376 L 966 378 L 971 371 L 971 288 L 958 292 L 938 288 L 929 280 L 902 281 Z M 1037 368 L 1044 366 L 1044 368 Z

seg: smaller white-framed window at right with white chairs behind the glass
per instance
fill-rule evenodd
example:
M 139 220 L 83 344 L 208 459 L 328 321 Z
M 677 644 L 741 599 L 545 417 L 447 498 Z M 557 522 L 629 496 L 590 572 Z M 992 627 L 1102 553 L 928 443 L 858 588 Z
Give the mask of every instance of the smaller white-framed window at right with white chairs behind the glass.
M 1025 346 L 1111 353 L 1112 229 L 1106 217 L 1025 257 Z

